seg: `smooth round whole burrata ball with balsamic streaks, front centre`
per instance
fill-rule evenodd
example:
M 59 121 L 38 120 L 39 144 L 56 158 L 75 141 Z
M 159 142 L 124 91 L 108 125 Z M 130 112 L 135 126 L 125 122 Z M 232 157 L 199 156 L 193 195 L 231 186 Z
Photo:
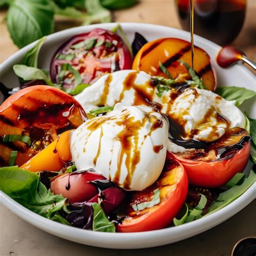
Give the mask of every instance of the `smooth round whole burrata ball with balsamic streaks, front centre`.
M 78 170 L 95 169 L 125 190 L 143 190 L 165 164 L 168 124 L 153 107 L 118 103 L 114 110 L 87 120 L 71 137 Z

